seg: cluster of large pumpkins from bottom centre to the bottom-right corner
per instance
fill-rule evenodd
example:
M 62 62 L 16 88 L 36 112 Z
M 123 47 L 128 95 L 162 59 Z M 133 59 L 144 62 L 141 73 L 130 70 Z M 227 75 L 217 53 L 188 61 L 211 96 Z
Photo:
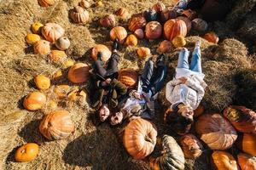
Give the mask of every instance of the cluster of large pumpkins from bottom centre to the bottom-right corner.
M 158 142 L 157 129 L 153 122 L 142 118 L 131 121 L 125 127 L 124 145 L 135 159 L 149 156 L 155 144 L 162 147 L 161 156 L 150 157 L 152 169 L 184 169 L 185 158 L 196 159 L 203 152 L 203 141 L 212 151 L 212 166 L 223 170 L 256 169 L 256 113 L 244 106 L 230 105 L 223 114 L 203 114 L 202 106 L 197 110 L 199 116 L 195 122 L 195 132 L 201 139 L 189 133 L 183 133 L 178 142 L 164 135 Z M 239 132 L 239 137 L 237 132 Z M 238 137 L 238 138 L 237 138 Z M 242 151 L 237 161 L 228 151 L 235 144 Z

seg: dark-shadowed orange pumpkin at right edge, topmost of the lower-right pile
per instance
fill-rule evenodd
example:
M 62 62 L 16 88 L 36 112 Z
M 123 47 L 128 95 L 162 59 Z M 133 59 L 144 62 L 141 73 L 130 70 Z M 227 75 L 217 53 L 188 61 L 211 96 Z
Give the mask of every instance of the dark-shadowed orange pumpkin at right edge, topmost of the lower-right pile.
M 224 109 L 224 116 L 241 133 L 256 134 L 256 113 L 244 106 L 230 105 Z

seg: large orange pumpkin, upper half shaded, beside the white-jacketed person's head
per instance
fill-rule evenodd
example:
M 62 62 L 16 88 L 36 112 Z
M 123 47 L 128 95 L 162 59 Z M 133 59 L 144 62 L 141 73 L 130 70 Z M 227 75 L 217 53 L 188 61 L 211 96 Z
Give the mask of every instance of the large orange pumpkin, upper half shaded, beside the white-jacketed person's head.
M 237 138 L 235 128 L 218 113 L 200 116 L 195 131 L 212 150 L 229 149 Z

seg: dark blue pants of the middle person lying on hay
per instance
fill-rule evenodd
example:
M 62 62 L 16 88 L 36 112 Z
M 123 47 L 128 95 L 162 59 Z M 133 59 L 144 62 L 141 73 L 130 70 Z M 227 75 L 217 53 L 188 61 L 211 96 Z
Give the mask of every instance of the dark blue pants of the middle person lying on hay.
M 166 65 L 157 65 L 157 67 L 154 68 L 154 62 L 152 60 L 148 60 L 141 76 L 143 82 L 143 92 L 148 93 L 148 91 L 151 89 L 153 95 L 157 94 L 165 85 L 164 81 L 166 78 L 166 73 Z

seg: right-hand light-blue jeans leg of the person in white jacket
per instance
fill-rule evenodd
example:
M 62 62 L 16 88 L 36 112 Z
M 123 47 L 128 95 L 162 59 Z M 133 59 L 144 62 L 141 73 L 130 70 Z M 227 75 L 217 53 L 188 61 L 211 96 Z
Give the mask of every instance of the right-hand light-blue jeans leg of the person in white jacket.
M 194 49 L 194 52 L 192 54 L 192 59 L 191 59 L 190 70 L 200 72 L 200 73 L 202 72 L 201 71 L 201 49 L 200 48 Z

